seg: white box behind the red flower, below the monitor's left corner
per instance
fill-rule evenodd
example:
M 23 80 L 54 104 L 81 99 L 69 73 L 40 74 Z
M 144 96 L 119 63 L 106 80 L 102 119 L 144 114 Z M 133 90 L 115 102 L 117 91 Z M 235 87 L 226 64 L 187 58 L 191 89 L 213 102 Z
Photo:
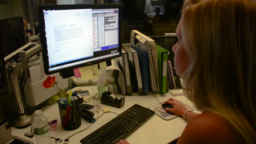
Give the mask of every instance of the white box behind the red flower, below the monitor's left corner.
M 58 82 L 58 87 L 60 89 L 68 88 L 68 79 L 62 79 L 62 77 L 59 75 L 59 73 L 53 74 L 51 76 L 55 76 L 56 82 Z M 28 105 L 39 105 L 41 102 L 45 101 L 46 99 L 53 96 L 53 94 L 56 94 L 56 90 L 54 88 L 44 88 L 43 81 L 45 79 L 36 82 L 36 83 L 30 83 L 29 80 L 26 81 L 26 84 L 24 86 L 25 88 L 25 97 L 26 102 Z

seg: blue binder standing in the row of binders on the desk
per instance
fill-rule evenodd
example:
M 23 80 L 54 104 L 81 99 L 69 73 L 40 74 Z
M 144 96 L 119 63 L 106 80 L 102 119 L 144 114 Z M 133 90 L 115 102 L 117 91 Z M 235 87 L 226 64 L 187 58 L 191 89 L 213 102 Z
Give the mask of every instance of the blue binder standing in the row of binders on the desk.
M 138 46 L 131 45 L 132 49 L 137 51 L 138 60 L 141 71 L 142 89 L 143 93 L 146 94 L 149 91 L 150 77 L 149 77 L 149 59 L 148 52 L 146 49 L 139 48 Z

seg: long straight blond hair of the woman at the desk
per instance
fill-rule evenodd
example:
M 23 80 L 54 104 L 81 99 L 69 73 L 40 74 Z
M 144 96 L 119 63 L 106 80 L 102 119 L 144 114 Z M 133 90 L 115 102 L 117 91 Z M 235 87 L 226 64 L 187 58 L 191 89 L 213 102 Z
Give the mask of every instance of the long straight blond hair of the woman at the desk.
M 184 11 L 182 39 L 190 65 L 184 90 L 197 109 L 211 111 L 256 141 L 256 3 L 202 0 Z

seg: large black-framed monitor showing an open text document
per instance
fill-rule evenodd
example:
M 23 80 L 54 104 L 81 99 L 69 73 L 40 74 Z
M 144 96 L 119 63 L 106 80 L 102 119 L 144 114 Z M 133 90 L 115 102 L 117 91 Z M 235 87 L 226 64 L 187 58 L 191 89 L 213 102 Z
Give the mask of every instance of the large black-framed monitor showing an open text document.
M 47 75 L 121 56 L 121 5 L 39 6 L 39 32 Z

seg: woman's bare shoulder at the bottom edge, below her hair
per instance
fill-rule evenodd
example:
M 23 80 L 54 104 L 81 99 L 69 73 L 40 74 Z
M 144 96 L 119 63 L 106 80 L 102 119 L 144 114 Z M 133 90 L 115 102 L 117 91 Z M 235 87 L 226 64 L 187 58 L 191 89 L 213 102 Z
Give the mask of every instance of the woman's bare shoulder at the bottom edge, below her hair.
M 238 134 L 220 116 L 203 112 L 191 119 L 179 139 L 180 144 L 236 144 Z

